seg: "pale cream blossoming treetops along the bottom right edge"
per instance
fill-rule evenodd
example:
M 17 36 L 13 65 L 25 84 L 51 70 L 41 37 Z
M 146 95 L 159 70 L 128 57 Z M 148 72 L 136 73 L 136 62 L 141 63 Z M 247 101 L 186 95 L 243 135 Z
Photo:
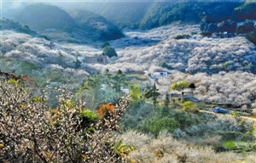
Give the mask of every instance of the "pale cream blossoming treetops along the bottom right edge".
M 126 135 L 127 134 L 127 135 Z M 143 134 L 143 138 L 147 136 Z M 121 138 L 130 139 L 131 142 L 142 139 L 142 134 L 133 132 L 124 133 Z M 179 141 L 166 132 L 160 133 L 158 138 L 147 139 L 143 144 L 140 143 L 136 149 L 131 152 L 127 162 L 131 163 L 175 163 L 175 162 L 189 162 L 189 163 L 254 163 L 255 156 L 253 154 L 243 158 L 241 155 L 224 152 L 216 153 L 212 147 L 207 146 L 209 141 L 212 144 L 218 145 L 218 136 L 206 135 L 206 140 L 194 139 L 194 143 L 186 143 Z M 129 141 L 124 141 L 128 143 Z M 201 146 L 206 145 L 206 146 Z

